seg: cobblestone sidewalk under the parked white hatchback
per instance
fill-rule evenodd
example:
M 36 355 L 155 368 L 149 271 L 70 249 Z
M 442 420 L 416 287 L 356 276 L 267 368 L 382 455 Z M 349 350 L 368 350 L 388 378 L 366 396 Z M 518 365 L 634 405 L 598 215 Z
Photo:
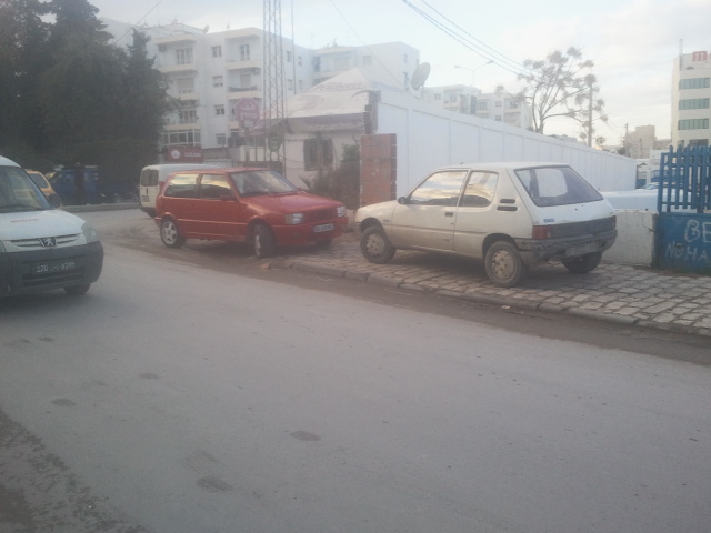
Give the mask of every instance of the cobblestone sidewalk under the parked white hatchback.
M 711 276 L 604 262 L 591 273 L 575 275 L 553 262 L 532 269 L 520 286 L 502 289 L 488 280 L 481 263 L 462 258 L 398 251 L 388 264 L 370 263 L 360 252 L 356 233 L 317 252 L 289 251 L 270 264 L 490 304 L 711 336 Z

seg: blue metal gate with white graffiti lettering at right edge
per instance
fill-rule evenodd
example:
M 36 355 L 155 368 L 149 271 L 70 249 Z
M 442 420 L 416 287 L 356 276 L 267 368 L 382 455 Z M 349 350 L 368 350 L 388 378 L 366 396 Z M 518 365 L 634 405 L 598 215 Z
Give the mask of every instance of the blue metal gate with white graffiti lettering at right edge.
M 711 149 L 662 153 L 657 209 L 658 268 L 711 275 Z

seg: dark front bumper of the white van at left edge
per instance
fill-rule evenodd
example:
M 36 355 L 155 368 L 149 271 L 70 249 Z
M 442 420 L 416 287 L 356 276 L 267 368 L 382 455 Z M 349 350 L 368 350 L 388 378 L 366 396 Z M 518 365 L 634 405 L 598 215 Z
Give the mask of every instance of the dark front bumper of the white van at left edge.
M 70 270 L 34 273 L 37 263 L 72 261 Z M 28 294 L 93 283 L 103 268 L 103 247 L 92 242 L 78 247 L 0 253 L 0 296 Z

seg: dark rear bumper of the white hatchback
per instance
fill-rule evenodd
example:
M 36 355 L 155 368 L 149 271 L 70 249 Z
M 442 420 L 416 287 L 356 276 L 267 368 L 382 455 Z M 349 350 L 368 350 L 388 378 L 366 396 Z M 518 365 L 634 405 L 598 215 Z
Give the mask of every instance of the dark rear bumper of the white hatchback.
M 595 234 L 565 237 L 559 239 L 515 239 L 525 264 L 532 265 L 551 259 L 567 259 L 591 252 L 608 250 L 618 237 L 618 230 Z

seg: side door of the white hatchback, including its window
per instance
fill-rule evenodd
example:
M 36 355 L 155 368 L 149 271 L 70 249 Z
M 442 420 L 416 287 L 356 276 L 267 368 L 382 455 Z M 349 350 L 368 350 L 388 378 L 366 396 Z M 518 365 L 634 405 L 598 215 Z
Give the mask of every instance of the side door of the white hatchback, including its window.
M 452 251 L 457 203 L 467 172 L 435 172 L 398 204 L 388 229 L 393 245 Z

